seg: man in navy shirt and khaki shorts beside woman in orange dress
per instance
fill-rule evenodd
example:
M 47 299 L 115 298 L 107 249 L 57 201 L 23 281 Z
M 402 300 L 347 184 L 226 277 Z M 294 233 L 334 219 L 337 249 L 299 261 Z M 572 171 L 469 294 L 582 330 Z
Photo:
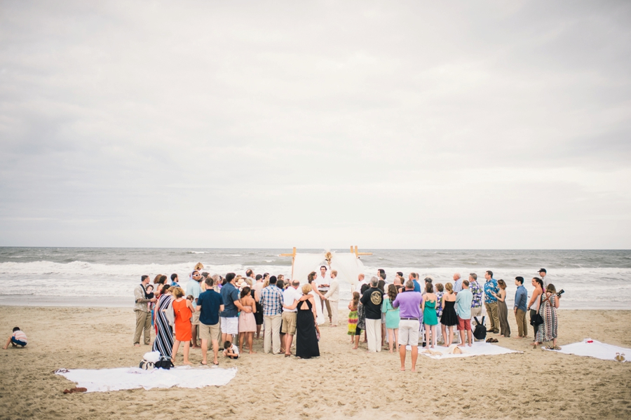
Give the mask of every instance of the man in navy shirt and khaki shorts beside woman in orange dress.
M 208 365 L 208 340 L 212 342 L 213 365 L 219 365 L 219 311 L 224 310 L 222 295 L 212 288 L 212 278 L 205 280 L 206 291 L 199 294 L 195 313 L 199 314 L 199 337 L 202 340 L 202 365 Z

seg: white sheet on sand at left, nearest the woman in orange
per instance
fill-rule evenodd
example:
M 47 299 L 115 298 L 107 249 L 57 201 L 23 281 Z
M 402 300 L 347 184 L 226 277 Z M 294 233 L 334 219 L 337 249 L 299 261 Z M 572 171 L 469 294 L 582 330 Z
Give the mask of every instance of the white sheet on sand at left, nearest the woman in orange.
M 135 388 L 171 388 L 172 386 L 179 386 L 179 388 L 222 386 L 235 377 L 236 371 L 236 367 L 220 369 L 179 366 L 170 370 L 117 367 L 115 369 L 73 369 L 57 374 L 76 382 L 79 388 L 88 388 L 88 392 L 107 392 Z

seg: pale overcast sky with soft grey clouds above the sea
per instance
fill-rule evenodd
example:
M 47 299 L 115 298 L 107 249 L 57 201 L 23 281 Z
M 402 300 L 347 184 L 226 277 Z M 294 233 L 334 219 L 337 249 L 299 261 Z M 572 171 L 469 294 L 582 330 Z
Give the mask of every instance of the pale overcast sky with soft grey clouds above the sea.
M 0 246 L 631 248 L 628 1 L 0 0 Z

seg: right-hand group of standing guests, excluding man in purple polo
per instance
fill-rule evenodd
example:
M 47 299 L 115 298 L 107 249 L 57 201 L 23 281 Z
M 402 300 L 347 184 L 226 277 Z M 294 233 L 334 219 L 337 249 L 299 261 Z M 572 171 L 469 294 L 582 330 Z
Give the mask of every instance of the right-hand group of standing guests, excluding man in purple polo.
M 541 269 L 539 275 L 540 277 L 532 279 L 534 291 L 530 300 L 523 286 L 524 278 L 515 278 L 517 290 L 513 312 L 517 321 L 518 336 L 514 338 L 528 337 L 526 313 L 530 311 L 531 325 L 534 329 L 533 344 L 536 346 L 543 341 L 552 341 L 552 346 L 548 348 L 559 349 L 556 342 L 556 309 L 559 307 L 560 295 L 557 294 L 554 285 L 545 283 L 545 269 Z M 449 347 L 454 342 L 459 342 L 460 346 L 465 346 L 465 343 L 470 346 L 475 325 L 481 323 L 478 317 L 482 316 L 482 304 L 489 318 L 490 325 L 487 331 L 501 334 L 501 337 L 510 337 L 506 305 L 507 284 L 502 279 L 496 280 L 492 271 L 485 271 L 484 278 L 486 281 L 480 285 L 476 273 L 470 273 L 468 280 L 463 280 L 459 273 L 455 273 L 453 283 L 434 284 L 434 279 L 428 276 L 421 285 L 418 273 L 409 273 L 407 282 L 412 286 L 412 292 L 421 296 L 417 320 L 419 331 L 424 331 L 424 341 L 429 348 L 434 348 L 438 343 Z M 395 347 L 399 350 L 400 341 L 405 341 L 400 339 L 401 321 L 411 320 L 408 319 L 409 316 L 403 316 L 395 305 L 400 294 L 408 292 L 408 283 L 405 282 L 403 273 L 398 272 L 393 283 L 389 285 L 386 283 L 385 272 L 381 269 L 370 283 L 365 281 L 362 274 L 358 280 L 357 288 L 348 304 L 348 334 L 351 335 L 353 349 L 358 348 L 361 332 L 365 330 L 364 342 L 367 343 L 368 351 L 381 351 L 386 331 L 390 352 L 392 353 Z M 541 317 L 541 324 L 535 321 L 537 315 Z M 475 323 L 472 320 L 475 320 Z M 454 328 L 459 332 L 459 341 L 454 339 Z M 407 338 L 409 339 L 409 334 Z

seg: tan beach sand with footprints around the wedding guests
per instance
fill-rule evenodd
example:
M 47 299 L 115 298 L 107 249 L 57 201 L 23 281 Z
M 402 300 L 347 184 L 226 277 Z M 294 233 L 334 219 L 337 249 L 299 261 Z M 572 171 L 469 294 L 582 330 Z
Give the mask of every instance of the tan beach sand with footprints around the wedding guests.
M 15 325 L 29 337 L 27 348 L 0 350 L 0 419 L 631 418 L 631 363 L 533 350 L 529 340 L 493 335 L 524 353 L 419 355 L 416 374 L 408 353 L 408 371 L 399 372 L 397 354 L 369 354 L 365 344 L 351 350 L 346 322 L 322 327 L 320 358 L 266 355 L 262 340 L 258 354 L 221 358 L 222 367 L 238 367 L 227 386 L 64 395 L 75 384 L 53 370 L 137 366 L 150 350 L 132 345 L 133 310 L 0 306 L 0 318 L 3 345 Z M 559 345 L 591 337 L 631 347 L 630 324 L 631 311 L 561 309 Z M 201 351 L 190 358 L 198 365 Z

